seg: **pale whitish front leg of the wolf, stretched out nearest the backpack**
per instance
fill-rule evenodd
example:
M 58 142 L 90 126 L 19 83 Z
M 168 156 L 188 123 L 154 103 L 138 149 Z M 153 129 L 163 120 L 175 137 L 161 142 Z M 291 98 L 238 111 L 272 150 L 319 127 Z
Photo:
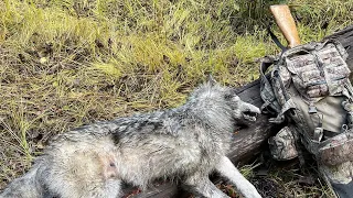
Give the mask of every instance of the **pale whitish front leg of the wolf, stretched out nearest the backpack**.
M 216 170 L 229 182 L 235 185 L 237 190 L 245 198 L 260 198 L 261 196 L 258 194 L 256 188 L 252 183 L 249 183 L 239 170 L 233 165 L 231 160 L 226 156 L 223 156 L 220 163 L 216 166 Z

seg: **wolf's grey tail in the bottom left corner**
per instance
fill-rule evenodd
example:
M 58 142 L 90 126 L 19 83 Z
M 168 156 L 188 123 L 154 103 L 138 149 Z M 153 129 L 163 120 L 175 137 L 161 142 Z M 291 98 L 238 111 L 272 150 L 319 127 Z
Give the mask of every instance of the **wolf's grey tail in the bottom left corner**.
M 38 180 L 39 166 L 32 167 L 25 175 L 10 183 L 0 198 L 39 198 L 43 197 L 42 185 Z

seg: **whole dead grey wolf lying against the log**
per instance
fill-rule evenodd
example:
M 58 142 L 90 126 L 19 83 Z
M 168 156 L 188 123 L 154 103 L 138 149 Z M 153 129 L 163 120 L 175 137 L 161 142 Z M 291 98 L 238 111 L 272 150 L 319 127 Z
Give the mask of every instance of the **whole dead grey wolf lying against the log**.
M 226 157 L 237 122 L 259 109 L 213 80 L 185 105 L 165 111 L 97 122 L 55 136 L 24 176 L 1 198 L 116 198 L 122 182 L 142 189 L 160 177 L 176 178 L 201 197 L 225 198 L 208 179 L 216 170 L 246 198 L 256 188 Z

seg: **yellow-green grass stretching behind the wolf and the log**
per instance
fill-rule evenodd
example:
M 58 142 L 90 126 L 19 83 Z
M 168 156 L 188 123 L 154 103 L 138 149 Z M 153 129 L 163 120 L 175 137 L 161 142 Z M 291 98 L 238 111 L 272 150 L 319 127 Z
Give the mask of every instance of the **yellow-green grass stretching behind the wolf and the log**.
M 265 31 L 274 2 L 0 1 L 0 188 L 57 133 L 179 106 L 207 73 L 257 79 L 258 58 L 279 52 Z M 303 43 L 353 20 L 352 0 L 288 3 Z

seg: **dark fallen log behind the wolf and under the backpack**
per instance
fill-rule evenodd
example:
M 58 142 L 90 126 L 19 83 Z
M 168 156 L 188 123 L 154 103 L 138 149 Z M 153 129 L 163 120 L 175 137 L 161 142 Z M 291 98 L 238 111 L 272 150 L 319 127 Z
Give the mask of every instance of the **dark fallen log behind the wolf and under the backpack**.
M 345 28 L 325 38 L 336 38 L 342 43 L 349 53 L 346 63 L 351 70 L 353 70 L 353 25 Z M 259 96 L 260 87 L 259 80 L 255 80 L 244 87 L 237 89 L 238 96 L 247 102 L 260 107 L 263 101 Z M 234 142 L 228 157 L 234 164 L 248 162 L 255 155 L 261 152 L 263 146 L 267 146 L 267 139 L 274 135 L 278 130 L 275 125 L 268 123 L 266 116 L 259 116 L 257 121 L 247 128 L 239 129 L 234 134 Z M 217 178 L 216 178 L 217 179 Z M 131 188 L 127 188 L 126 195 L 131 194 Z M 167 198 L 167 197 L 188 197 L 184 191 L 175 184 L 162 183 L 154 185 L 149 189 L 139 193 L 130 198 Z

